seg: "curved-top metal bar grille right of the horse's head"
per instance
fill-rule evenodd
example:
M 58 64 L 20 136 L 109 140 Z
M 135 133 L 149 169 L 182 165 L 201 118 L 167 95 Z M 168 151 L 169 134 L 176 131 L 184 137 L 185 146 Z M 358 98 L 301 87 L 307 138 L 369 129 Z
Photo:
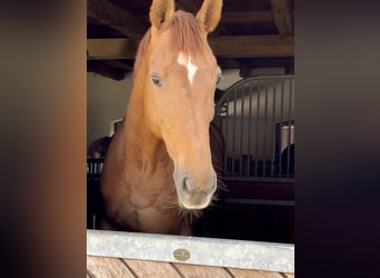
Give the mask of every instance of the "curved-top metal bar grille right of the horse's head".
M 243 79 L 216 107 L 227 178 L 294 178 L 294 77 Z

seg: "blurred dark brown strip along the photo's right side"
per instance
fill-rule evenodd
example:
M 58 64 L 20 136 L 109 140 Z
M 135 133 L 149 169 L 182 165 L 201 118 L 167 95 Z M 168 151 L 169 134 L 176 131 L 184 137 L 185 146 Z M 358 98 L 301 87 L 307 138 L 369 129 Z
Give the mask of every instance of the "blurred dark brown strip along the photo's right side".
M 296 3 L 296 277 L 378 277 L 380 4 Z

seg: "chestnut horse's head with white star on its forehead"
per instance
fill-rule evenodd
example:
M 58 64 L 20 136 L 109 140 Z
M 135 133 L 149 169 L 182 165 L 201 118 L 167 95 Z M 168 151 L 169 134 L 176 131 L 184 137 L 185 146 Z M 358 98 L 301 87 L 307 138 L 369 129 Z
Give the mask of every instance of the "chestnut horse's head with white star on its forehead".
M 173 161 L 178 203 L 206 208 L 217 189 L 209 125 L 221 70 L 207 42 L 221 17 L 221 0 L 204 0 L 197 16 L 174 11 L 174 0 L 153 0 L 151 28 L 137 58 L 146 57 L 144 109 L 151 131 Z

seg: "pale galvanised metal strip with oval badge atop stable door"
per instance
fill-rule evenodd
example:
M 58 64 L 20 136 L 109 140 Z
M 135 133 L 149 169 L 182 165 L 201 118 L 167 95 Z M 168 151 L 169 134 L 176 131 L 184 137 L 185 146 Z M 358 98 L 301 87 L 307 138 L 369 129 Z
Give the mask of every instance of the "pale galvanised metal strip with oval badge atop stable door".
M 87 230 L 87 255 L 294 272 L 290 244 Z

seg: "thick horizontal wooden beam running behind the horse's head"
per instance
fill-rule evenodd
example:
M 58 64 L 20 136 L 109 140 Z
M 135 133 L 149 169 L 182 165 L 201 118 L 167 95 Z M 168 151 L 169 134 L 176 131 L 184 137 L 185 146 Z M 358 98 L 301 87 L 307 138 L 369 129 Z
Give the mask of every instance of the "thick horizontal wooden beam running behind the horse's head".
M 134 59 L 139 41 L 132 39 L 88 39 L 89 60 Z M 293 57 L 293 36 L 222 36 L 209 39 L 218 58 Z

